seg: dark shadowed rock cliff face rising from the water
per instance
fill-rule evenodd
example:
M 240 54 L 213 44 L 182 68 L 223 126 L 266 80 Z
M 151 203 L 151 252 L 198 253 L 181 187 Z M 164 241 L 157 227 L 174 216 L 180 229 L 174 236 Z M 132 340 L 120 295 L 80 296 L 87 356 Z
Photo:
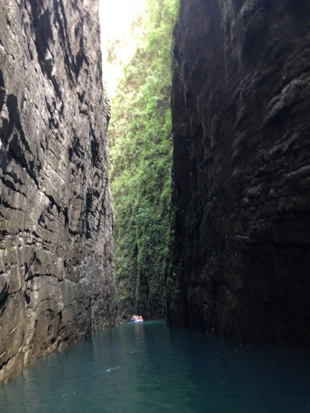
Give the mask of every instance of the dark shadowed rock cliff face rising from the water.
M 182 0 L 168 320 L 310 344 L 310 5 Z

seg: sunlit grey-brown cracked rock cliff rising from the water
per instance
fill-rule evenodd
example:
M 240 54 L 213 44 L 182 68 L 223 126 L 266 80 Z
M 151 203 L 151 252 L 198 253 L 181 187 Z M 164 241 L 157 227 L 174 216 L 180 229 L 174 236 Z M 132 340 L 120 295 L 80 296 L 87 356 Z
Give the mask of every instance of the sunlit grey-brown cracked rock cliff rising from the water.
M 0 2 L 0 382 L 117 313 L 98 1 Z

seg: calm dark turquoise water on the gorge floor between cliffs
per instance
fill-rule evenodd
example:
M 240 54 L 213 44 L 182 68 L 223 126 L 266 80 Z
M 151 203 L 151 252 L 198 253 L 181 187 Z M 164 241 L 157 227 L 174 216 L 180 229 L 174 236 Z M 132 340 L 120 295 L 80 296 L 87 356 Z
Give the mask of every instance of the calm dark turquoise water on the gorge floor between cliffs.
M 0 412 L 310 412 L 310 363 L 163 322 L 122 324 L 0 387 Z

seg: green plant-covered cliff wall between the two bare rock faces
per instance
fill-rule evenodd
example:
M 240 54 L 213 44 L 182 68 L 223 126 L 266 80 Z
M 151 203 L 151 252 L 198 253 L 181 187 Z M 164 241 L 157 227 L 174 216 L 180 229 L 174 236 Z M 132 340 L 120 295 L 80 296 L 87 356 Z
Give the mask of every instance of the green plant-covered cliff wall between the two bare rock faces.
M 110 121 L 114 254 L 123 318 L 165 314 L 172 164 L 172 31 L 178 0 L 148 0 L 146 40 L 124 68 Z

